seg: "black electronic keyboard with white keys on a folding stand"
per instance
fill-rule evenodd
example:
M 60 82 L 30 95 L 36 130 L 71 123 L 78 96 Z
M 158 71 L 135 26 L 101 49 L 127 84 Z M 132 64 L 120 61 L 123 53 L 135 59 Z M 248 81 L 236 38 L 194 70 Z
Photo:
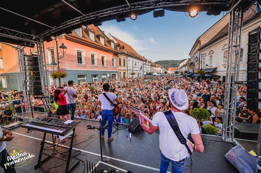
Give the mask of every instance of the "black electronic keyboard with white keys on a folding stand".
M 23 123 L 21 126 L 30 130 L 65 136 L 80 123 L 80 121 L 73 121 L 71 124 L 65 124 L 65 122 L 65 119 L 39 116 Z

